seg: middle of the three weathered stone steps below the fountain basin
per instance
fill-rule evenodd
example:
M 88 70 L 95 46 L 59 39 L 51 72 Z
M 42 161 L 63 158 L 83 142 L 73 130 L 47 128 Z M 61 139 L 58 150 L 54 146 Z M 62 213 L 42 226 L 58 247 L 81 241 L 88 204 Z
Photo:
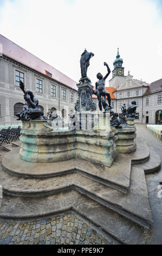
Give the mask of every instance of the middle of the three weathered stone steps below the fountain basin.
M 25 179 L 1 170 L 0 184 L 5 193 L 23 197 L 49 196 L 73 189 L 146 228 L 152 222 L 144 170 L 139 168 L 133 168 L 127 194 L 76 173 L 50 179 Z

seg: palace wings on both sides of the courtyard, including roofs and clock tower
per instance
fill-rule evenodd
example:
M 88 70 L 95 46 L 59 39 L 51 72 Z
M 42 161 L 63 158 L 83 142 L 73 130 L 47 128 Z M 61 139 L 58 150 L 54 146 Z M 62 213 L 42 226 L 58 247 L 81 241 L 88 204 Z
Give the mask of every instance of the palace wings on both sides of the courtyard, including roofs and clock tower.
M 148 84 L 134 79 L 129 71 L 125 76 L 122 64 L 118 49 L 112 78 L 106 87 L 111 95 L 113 111 L 120 114 L 124 103 L 128 108 L 135 100 L 139 113 L 136 123 L 162 122 L 162 79 Z M 44 115 L 52 110 L 64 118 L 74 110 L 76 82 L 0 35 L 0 125 L 16 123 L 15 114 L 22 111 L 25 102 L 20 80 L 24 82 L 25 89 L 32 90 L 38 98 Z M 98 106 L 95 95 L 93 99 Z

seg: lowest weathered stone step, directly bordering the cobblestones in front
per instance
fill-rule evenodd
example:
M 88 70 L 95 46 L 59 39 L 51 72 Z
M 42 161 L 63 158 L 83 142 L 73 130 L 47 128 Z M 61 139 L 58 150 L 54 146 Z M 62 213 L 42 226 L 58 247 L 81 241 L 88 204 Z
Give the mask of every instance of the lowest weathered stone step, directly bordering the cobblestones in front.
M 145 244 L 147 231 L 131 220 L 76 191 L 40 198 L 5 196 L 0 199 L 0 218 L 16 220 L 48 216 L 74 210 L 124 244 Z

